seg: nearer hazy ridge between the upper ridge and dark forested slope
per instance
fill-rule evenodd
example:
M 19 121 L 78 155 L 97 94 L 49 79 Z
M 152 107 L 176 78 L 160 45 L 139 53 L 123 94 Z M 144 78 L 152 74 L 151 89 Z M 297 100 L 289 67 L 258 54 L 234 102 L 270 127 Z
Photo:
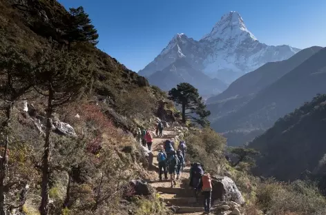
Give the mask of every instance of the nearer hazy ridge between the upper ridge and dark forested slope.
M 212 123 L 212 127 L 218 132 L 268 129 L 280 116 L 309 101 L 314 95 L 326 92 L 325 57 L 326 49 L 323 48 L 258 92 L 239 110 Z

